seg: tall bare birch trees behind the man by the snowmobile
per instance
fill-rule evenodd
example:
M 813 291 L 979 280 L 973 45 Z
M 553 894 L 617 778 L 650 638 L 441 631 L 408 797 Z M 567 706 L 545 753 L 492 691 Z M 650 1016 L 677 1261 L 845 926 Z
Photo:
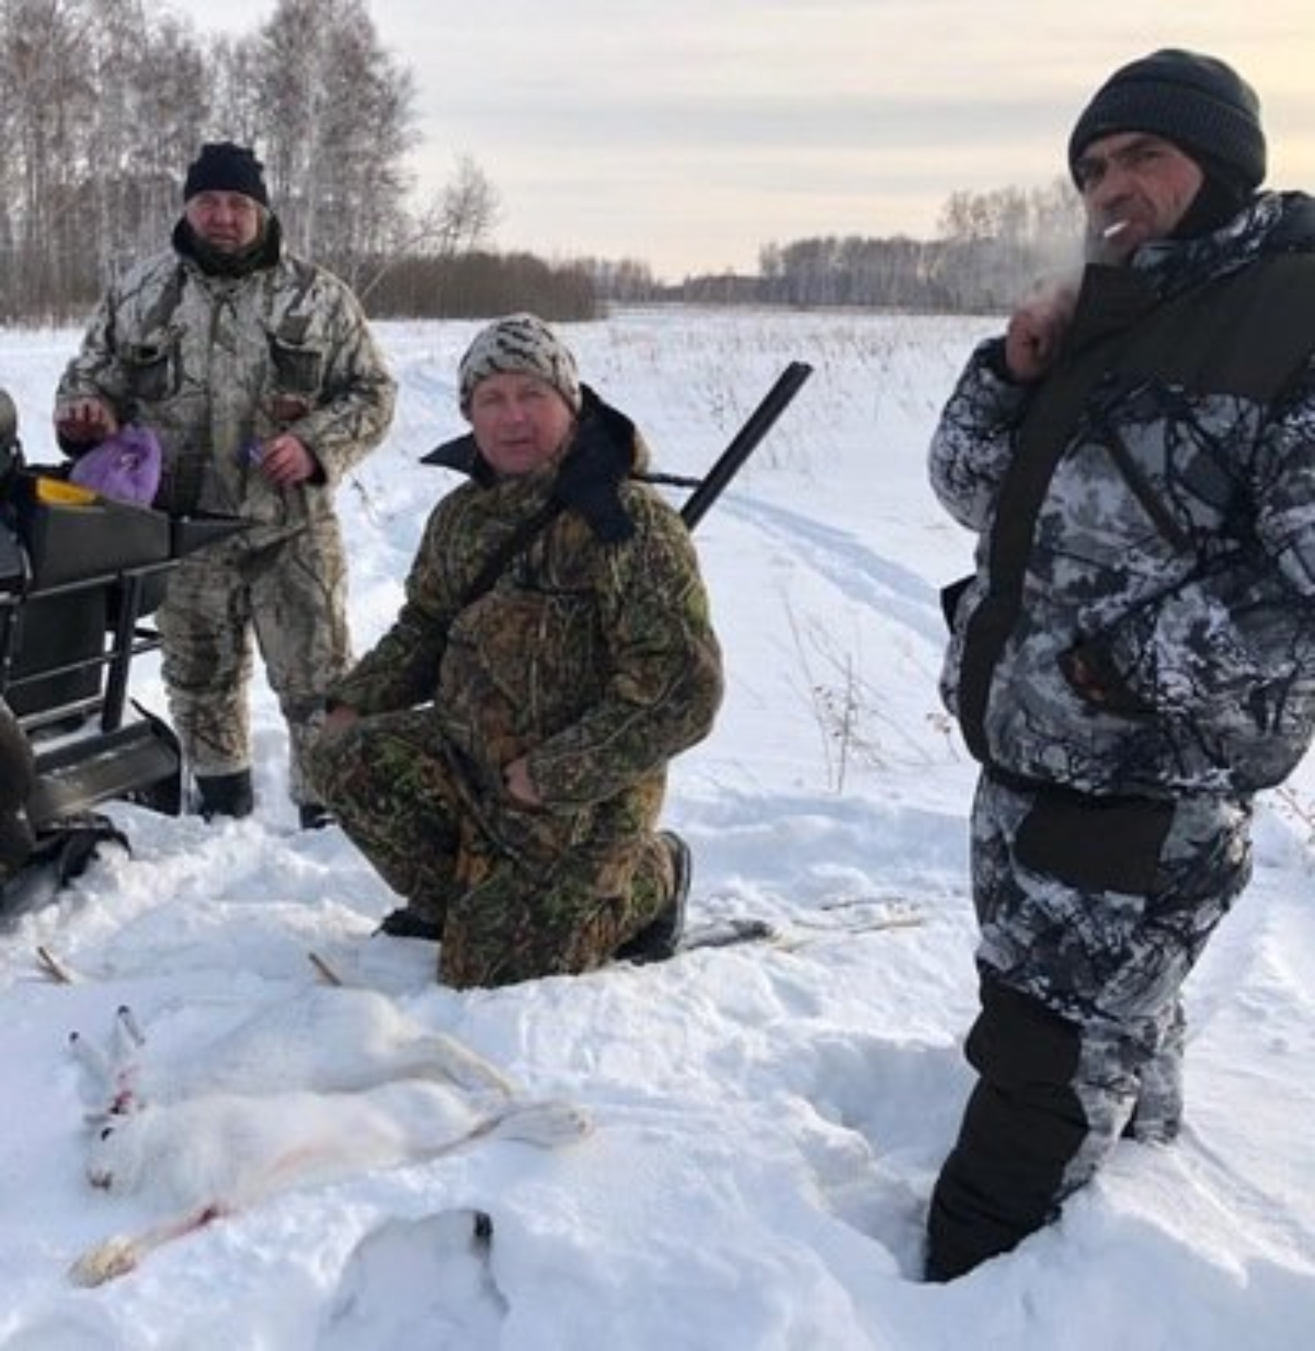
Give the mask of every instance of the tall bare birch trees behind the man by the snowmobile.
M 205 141 L 254 146 L 288 242 L 359 289 L 473 247 L 497 199 L 468 159 L 408 208 L 414 99 L 363 0 L 205 39 L 143 0 L 0 0 L 0 322 L 80 315 L 165 247 Z

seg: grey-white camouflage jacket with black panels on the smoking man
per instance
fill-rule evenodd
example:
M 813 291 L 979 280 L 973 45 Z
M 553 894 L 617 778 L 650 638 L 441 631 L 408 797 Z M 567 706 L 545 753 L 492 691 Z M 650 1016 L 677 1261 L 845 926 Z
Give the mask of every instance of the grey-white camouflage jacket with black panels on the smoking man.
M 942 681 L 979 759 L 1090 793 L 1280 782 L 1315 724 L 1315 203 L 1088 267 L 1045 381 L 977 349 L 930 473 L 980 536 Z

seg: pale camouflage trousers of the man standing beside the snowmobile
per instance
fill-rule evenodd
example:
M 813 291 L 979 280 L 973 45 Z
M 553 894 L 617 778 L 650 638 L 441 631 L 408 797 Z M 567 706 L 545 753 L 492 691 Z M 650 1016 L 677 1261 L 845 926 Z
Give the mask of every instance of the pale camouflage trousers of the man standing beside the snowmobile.
M 306 750 L 325 689 L 351 663 L 338 523 L 274 536 L 257 526 L 184 558 L 169 576 L 157 627 L 169 709 L 190 770 L 251 767 L 255 643 L 288 724 L 292 800 L 316 801 L 306 786 Z

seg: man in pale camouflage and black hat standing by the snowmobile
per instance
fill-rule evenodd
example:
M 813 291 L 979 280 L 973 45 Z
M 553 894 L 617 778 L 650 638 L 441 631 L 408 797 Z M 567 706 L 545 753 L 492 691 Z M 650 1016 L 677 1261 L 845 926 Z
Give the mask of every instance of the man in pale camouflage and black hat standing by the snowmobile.
M 207 145 L 188 169 L 173 247 L 116 282 L 59 382 L 73 455 L 122 424 L 163 447 L 155 505 L 248 528 L 184 558 L 158 613 L 163 677 L 205 816 L 254 805 L 252 632 L 292 742 L 304 827 L 325 816 L 305 753 L 350 665 L 347 566 L 333 494 L 383 438 L 394 384 L 336 277 L 288 254 L 251 150 Z

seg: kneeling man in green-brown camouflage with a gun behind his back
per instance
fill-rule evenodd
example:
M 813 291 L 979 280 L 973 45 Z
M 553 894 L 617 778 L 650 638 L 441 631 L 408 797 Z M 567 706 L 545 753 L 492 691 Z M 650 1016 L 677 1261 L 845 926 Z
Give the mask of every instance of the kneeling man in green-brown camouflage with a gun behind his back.
M 460 403 L 473 435 L 429 458 L 471 480 L 329 690 L 321 797 L 406 901 L 385 932 L 439 939 L 447 985 L 664 955 L 689 888 L 686 846 L 655 831 L 667 763 L 722 693 L 693 543 L 541 320 L 475 338 Z

